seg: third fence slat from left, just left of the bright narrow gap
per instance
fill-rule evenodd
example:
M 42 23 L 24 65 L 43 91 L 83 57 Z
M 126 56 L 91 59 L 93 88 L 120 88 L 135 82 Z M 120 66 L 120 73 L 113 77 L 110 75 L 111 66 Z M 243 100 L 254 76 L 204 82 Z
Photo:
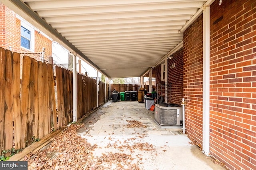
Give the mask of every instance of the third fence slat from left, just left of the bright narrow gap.
M 13 53 L 13 113 L 15 149 L 21 149 L 20 54 Z

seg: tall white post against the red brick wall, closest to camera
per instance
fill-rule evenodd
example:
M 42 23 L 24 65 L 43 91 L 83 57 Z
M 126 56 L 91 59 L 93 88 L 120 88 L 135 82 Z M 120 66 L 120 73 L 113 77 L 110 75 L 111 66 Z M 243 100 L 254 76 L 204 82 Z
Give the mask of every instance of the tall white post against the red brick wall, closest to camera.
M 210 156 L 210 6 L 203 10 L 203 150 Z

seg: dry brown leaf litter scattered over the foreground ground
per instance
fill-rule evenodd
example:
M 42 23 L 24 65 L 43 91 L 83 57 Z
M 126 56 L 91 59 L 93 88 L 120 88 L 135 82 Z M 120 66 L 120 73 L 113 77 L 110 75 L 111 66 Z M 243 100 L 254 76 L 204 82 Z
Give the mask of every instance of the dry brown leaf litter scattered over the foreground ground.
M 134 121 L 132 121 L 134 123 Z M 141 123 L 141 122 L 140 122 Z M 144 127 L 142 123 L 136 122 L 139 127 Z M 134 125 L 133 125 L 134 126 Z M 28 170 L 140 170 L 138 164 L 142 160 L 142 155 L 136 155 L 133 158 L 131 154 L 122 152 L 124 149 L 134 152 L 134 150 L 155 150 L 149 143 L 134 143 L 129 145 L 128 141 L 134 141 L 136 138 L 130 138 L 128 141 L 120 141 L 108 147 L 119 149 L 121 152 L 106 152 L 100 157 L 94 157 L 93 151 L 97 145 L 91 145 L 87 139 L 77 135 L 78 129 L 84 127 L 83 124 L 72 124 L 62 133 L 56 135 L 52 143 L 44 150 L 30 152 L 24 160 L 28 161 Z M 112 140 L 112 137 L 109 137 Z M 121 145 L 117 145 L 117 143 Z M 135 160 L 134 160 L 135 159 Z

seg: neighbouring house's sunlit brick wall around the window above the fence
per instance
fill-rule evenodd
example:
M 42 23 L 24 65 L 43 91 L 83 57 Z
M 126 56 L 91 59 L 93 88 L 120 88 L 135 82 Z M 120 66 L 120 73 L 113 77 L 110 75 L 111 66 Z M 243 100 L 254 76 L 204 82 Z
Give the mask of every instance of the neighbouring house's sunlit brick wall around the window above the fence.
M 9 49 L 12 47 L 12 52 L 21 53 L 21 57 L 28 55 L 36 60 L 40 60 L 40 54 L 22 54 L 33 53 L 20 46 L 20 20 L 16 18 L 16 14 L 8 7 L 0 3 L 0 47 Z M 52 41 L 35 30 L 35 51 L 34 53 L 42 52 L 45 47 L 45 60 L 52 56 Z

